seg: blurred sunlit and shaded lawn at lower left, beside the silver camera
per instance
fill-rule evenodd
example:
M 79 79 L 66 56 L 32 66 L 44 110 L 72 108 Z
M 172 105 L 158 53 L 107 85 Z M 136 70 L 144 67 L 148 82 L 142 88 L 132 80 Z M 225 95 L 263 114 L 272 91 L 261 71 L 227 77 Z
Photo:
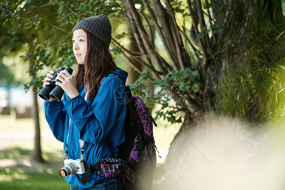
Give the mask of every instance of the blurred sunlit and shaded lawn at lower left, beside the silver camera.
M 45 152 L 45 163 L 31 159 L 32 150 L 22 147 L 0 151 L 0 187 L 8 189 L 69 189 L 58 174 L 62 162 L 59 152 Z

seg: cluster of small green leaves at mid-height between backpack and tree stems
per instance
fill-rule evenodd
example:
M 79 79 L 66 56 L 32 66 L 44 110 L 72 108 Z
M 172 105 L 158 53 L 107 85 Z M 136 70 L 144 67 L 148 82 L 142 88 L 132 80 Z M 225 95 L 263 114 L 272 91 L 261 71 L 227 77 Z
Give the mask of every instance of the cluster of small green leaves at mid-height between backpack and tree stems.
M 161 109 L 156 111 L 155 119 L 161 117 L 170 123 L 181 123 L 184 114 L 181 113 L 182 109 L 179 105 L 171 106 L 171 89 L 178 88 L 181 96 L 188 91 L 197 92 L 200 86 L 197 81 L 197 71 L 186 68 L 177 73 L 168 73 L 164 79 L 156 79 L 150 85 L 144 85 L 150 75 L 151 72 L 144 70 L 138 80 L 130 85 L 133 95 L 141 97 L 147 106 L 155 103 L 162 105 Z

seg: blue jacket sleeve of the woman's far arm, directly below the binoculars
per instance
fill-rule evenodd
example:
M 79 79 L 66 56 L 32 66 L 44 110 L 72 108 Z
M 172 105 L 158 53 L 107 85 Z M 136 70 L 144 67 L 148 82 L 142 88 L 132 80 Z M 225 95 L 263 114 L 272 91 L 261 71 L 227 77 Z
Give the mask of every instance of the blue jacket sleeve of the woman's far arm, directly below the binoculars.
M 63 142 L 64 123 L 66 119 L 66 111 L 64 111 L 63 103 L 61 101 L 45 101 L 45 116 L 54 137 Z

